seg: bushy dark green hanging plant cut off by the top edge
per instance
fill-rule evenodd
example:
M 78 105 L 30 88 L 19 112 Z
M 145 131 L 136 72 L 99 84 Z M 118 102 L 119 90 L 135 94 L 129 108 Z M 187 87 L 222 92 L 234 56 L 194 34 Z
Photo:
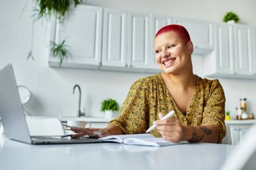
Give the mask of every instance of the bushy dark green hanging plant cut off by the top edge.
M 64 20 L 66 11 L 69 10 L 71 3 L 78 5 L 80 0 L 36 0 L 38 7 L 35 7 L 36 18 L 46 17 L 51 19 L 51 15 L 56 15 L 61 21 Z

